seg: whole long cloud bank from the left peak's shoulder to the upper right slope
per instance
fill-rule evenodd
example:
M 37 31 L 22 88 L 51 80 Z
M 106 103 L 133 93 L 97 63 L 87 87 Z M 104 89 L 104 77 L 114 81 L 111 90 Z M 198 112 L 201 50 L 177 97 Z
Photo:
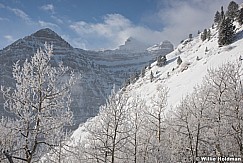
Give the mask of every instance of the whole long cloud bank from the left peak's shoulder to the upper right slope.
M 73 22 L 70 28 L 82 37 L 76 39 L 78 43 L 85 44 L 88 49 L 117 48 L 130 36 L 149 44 L 169 40 L 177 45 L 189 34 L 211 27 L 215 12 L 222 5 L 226 10 L 230 1 L 158 0 L 157 10 L 145 17 L 149 18 L 146 22 L 148 26 L 153 27 L 153 23 L 158 25 L 159 22 L 160 30 L 136 25 L 120 14 L 108 14 L 99 23 Z M 239 1 L 236 0 L 237 3 Z

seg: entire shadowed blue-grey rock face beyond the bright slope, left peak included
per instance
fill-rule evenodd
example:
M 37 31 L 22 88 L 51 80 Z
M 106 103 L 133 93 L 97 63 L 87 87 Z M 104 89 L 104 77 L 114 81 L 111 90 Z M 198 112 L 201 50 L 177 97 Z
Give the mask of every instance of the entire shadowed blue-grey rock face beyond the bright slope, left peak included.
M 26 59 L 30 59 L 45 42 L 53 45 L 51 59 L 53 66 L 63 62 L 65 66 L 81 74 L 81 79 L 72 90 L 72 110 L 76 124 L 74 128 L 97 114 L 99 106 L 105 103 L 114 84 L 120 87 L 126 78 L 134 72 L 140 72 L 157 55 L 148 51 L 129 51 L 124 47 L 125 45 L 123 48 L 126 52 L 121 49 L 102 52 L 85 51 L 73 48 L 54 31 L 46 28 L 19 39 L 0 51 L 0 85 L 14 87 L 13 63 L 20 60 L 22 64 Z M 0 95 L 0 115 L 6 114 L 3 109 L 3 98 Z

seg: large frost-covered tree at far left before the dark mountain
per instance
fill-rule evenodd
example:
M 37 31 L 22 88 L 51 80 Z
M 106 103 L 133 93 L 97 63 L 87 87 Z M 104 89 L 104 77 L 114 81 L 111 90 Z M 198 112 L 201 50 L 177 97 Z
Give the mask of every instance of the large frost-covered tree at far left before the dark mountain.
M 1 121 L 12 137 L 10 146 L 4 147 L 9 161 L 30 163 L 50 149 L 57 152 L 65 138 L 64 127 L 72 123 L 70 89 L 76 78 L 62 64 L 50 65 L 52 51 L 52 46 L 45 44 L 23 66 L 15 63 L 15 88 L 1 86 L 4 107 L 14 116 L 11 125 Z

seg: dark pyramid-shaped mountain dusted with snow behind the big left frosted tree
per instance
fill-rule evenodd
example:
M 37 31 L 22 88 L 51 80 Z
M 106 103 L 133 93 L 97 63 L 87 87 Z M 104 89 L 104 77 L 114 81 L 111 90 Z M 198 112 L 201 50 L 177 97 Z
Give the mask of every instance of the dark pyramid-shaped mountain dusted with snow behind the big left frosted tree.
M 62 61 L 65 66 L 71 67 L 77 74 L 82 75 L 72 91 L 74 97 L 72 109 L 75 123 L 78 125 L 97 113 L 97 108 L 104 103 L 114 79 L 98 65 L 92 64 L 85 51 L 73 48 L 54 31 L 39 30 L 0 51 L 1 85 L 14 86 L 14 81 L 11 80 L 13 63 L 18 60 L 22 63 L 29 59 L 37 48 L 43 47 L 45 42 L 53 44 L 51 62 L 54 66 Z M 4 112 L 1 111 L 1 114 Z

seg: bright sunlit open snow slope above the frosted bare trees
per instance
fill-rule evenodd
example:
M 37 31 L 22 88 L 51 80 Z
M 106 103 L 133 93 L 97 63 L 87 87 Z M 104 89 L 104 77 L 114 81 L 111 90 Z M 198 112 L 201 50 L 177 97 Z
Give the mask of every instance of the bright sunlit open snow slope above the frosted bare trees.
M 124 88 L 123 93 L 130 98 L 139 97 L 145 100 L 147 106 L 151 106 L 152 109 L 153 100 L 159 94 L 158 87 L 161 84 L 166 85 L 169 88 L 166 113 L 173 111 L 183 97 L 192 93 L 195 86 L 202 84 L 208 69 L 217 68 L 227 62 L 239 61 L 242 55 L 243 26 L 237 26 L 235 41 L 223 47 L 218 46 L 217 29 L 210 30 L 212 35 L 209 40 L 202 41 L 200 35 L 185 40 L 167 55 L 165 66 L 158 67 L 156 62 L 152 63 L 151 68 L 146 68 L 145 76 Z M 158 47 L 155 45 L 149 50 L 157 50 Z M 178 66 L 179 56 L 182 64 Z M 152 81 L 151 72 L 154 74 Z M 70 145 L 77 146 L 85 142 L 89 135 L 84 126 L 96 124 L 99 116 L 80 126 L 73 133 Z

